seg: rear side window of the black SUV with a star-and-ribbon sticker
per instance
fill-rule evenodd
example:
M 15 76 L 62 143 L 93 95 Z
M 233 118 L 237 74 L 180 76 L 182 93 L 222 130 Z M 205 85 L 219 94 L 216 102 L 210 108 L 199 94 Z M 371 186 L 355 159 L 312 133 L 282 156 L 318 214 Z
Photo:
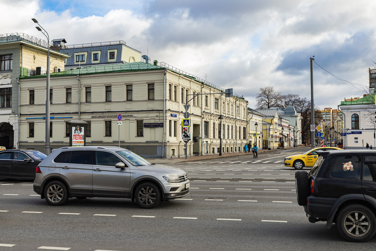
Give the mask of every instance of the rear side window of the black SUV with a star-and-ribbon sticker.
M 360 180 L 361 167 L 361 155 L 340 155 L 334 158 L 331 176 L 340 179 Z

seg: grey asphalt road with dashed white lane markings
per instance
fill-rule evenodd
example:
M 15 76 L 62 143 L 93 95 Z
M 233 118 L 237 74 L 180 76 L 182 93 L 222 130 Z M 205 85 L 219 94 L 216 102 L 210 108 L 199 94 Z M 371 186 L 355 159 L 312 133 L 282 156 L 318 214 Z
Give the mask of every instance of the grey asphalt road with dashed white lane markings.
M 0 180 L 0 251 L 372 250 L 375 238 L 351 243 L 335 225 L 308 222 L 283 164 L 297 151 L 173 164 L 188 173 L 190 195 L 151 210 L 112 198 L 52 207 L 31 182 Z

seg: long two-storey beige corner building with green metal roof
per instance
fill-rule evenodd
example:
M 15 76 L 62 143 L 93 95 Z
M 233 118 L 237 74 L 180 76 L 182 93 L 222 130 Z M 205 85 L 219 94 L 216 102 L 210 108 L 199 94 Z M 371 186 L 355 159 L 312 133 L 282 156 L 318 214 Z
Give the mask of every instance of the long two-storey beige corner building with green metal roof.
M 44 149 L 45 81 L 45 76 L 20 78 L 20 148 Z M 145 157 L 217 154 L 221 114 L 223 152 L 243 151 L 247 142 L 244 98 L 214 94 L 223 90 L 165 64 L 66 70 L 51 74 L 50 88 L 51 148 L 68 146 L 68 122 L 82 120 L 88 122 L 86 145 L 120 144 Z M 188 103 L 193 137 L 188 149 L 181 129 L 186 96 L 194 97 Z M 122 125 L 117 125 L 118 114 Z

